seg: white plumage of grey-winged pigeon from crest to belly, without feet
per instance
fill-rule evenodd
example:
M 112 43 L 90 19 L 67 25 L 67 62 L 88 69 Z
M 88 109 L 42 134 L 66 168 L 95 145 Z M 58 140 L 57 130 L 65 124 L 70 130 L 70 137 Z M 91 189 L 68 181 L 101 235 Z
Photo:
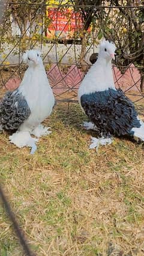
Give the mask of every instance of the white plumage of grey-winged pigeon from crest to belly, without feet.
M 37 53 L 39 52 L 35 50 L 31 50 L 31 54 L 29 52 L 26 53 L 27 57 L 30 55 L 29 58 L 34 59 L 36 64 L 33 61 L 29 61 L 29 67 L 25 72 L 19 91 L 25 96 L 31 115 L 20 126 L 19 130 L 31 131 L 45 118 L 49 117 L 55 104 L 55 99 L 47 79 L 43 61 L 40 56 L 37 60 Z

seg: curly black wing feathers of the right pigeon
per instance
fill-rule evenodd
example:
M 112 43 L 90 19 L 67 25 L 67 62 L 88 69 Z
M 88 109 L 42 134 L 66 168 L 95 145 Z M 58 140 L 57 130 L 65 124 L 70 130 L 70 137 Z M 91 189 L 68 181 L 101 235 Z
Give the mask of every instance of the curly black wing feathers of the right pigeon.
M 140 127 L 133 103 L 120 89 L 84 94 L 80 102 L 89 120 L 104 136 L 132 135 L 131 129 Z

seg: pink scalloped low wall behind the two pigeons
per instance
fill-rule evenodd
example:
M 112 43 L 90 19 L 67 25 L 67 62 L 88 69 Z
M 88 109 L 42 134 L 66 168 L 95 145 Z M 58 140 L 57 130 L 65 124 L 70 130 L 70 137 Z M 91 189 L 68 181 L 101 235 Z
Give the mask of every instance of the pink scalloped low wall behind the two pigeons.
M 55 64 L 47 72 L 47 76 L 55 96 L 62 97 L 64 93 L 77 93 L 77 88 L 79 88 L 84 73 L 74 65 L 71 66 L 66 73 L 63 73 L 58 65 Z M 121 88 L 124 91 L 132 90 L 140 92 L 140 73 L 134 64 L 130 64 L 124 74 L 121 73 L 118 67 L 113 67 L 113 78 L 116 88 Z M 19 77 L 11 78 L 5 84 L 5 88 L 7 88 L 7 90 L 14 90 L 19 87 L 19 84 Z

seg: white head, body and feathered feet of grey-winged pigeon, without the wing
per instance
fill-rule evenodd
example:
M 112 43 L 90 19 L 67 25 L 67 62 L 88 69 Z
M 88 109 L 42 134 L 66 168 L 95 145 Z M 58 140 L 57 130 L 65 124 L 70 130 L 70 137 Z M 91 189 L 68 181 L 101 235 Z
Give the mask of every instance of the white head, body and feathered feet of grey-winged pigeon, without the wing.
M 44 128 L 40 124 L 52 113 L 55 99 L 43 66 L 41 52 L 39 50 L 26 51 L 23 61 L 29 67 L 23 76 L 19 91 L 25 97 L 31 114 L 20 125 L 19 130 L 10 136 L 10 141 L 17 147 L 32 147 L 31 153 L 34 153 L 36 150 L 35 139 L 30 134 L 34 133 L 35 136 L 40 137 L 50 133 L 47 131 L 49 127 Z

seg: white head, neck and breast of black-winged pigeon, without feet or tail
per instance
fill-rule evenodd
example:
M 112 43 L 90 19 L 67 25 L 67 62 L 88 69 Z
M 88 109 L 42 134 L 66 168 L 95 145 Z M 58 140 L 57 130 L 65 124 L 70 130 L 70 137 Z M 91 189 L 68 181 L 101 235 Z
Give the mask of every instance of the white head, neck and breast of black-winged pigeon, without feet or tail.
M 107 49 L 107 52 L 104 52 L 105 48 Z M 115 90 L 112 75 L 112 58 L 110 58 L 110 54 L 115 54 L 115 49 L 115 44 L 109 43 L 109 41 L 106 40 L 101 41 L 98 59 L 92 65 L 91 69 L 89 69 L 79 87 L 79 102 L 80 97 L 83 94 L 94 93 L 95 91 L 105 91 L 108 88 L 113 88 Z

